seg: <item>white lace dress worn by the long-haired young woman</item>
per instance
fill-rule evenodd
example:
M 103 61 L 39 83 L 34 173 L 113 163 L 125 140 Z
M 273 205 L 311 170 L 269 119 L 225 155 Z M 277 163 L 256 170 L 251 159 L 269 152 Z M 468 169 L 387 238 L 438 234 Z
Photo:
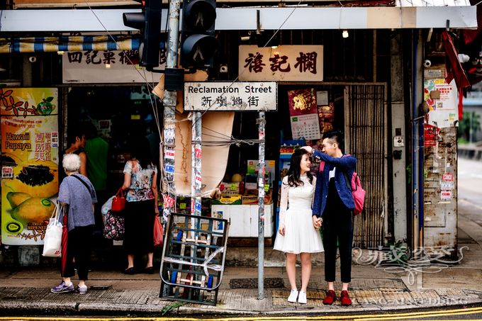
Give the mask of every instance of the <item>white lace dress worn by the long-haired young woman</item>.
M 285 225 L 285 232 L 284 236 L 276 234 L 274 249 L 293 254 L 323 252 L 320 231 L 311 218 L 316 177 L 312 184 L 306 174 L 300 179 L 304 184 L 296 187 L 288 186 L 288 176 L 281 183 L 279 225 Z

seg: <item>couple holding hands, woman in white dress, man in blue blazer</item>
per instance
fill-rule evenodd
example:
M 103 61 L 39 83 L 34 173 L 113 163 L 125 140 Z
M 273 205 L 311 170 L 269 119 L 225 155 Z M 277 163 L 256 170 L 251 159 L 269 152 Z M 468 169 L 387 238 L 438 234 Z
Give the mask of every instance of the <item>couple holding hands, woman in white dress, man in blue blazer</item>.
M 323 304 L 332 305 L 335 293 L 337 242 L 340 249 L 341 305 L 352 305 L 348 285 L 352 274 L 354 200 L 346 177 L 352 177 L 357 159 L 340 149 L 340 133 L 323 135 L 322 152 L 305 146 L 291 156 L 288 175 L 281 184 L 279 229 L 274 249 L 286 253 L 286 274 L 291 286 L 288 302 L 307 303 L 306 288 L 311 274 L 311 253 L 325 252 Z M 310 173 L 310 154 L 324 166 Z M 323 241 L 320 235 L 323 229 Z M 296 287 L 296 256 L 301 259 L 301 290 Z

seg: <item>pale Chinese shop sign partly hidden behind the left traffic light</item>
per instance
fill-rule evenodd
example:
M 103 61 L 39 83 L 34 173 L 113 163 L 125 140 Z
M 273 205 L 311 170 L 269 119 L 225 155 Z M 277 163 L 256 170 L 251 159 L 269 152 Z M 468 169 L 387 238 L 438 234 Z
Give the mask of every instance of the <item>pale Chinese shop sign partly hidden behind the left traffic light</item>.
M 159 55 L 159 69 L 166 63 L 165 50 Z M 139 67 L 139 50 L 69 51 L 62 55 L 64 84 L 157 82 L 159 74 Z

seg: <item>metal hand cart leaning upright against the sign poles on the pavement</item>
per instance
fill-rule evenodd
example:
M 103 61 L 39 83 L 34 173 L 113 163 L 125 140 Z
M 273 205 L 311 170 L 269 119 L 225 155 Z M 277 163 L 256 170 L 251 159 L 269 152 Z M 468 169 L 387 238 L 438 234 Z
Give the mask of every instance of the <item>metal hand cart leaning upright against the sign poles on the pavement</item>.
M 172 213 L 162 250 L 159 298 L 216 305 L 228 220 Z

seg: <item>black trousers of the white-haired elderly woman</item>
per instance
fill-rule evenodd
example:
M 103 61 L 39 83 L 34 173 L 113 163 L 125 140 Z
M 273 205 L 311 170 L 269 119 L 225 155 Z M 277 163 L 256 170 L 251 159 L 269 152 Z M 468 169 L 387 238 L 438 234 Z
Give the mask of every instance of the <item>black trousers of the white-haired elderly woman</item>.
M 75 275 L 75 266 L 79 280 L 87 280 L 91 255 L 91 237 L 94 225 L 75 227 L 69 231 L 67 240 L 67 261 L 63 277 L 69 278 Z

